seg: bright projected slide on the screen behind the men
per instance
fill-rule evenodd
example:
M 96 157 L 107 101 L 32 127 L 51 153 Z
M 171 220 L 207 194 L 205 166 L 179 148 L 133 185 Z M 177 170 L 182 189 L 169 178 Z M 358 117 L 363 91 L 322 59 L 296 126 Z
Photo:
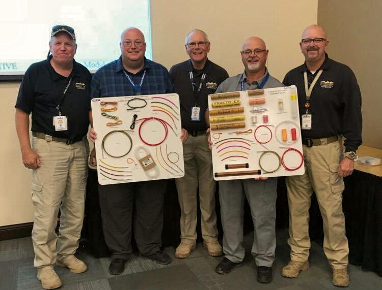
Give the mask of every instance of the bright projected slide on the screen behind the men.
M 46 58 L 52 26 L 74 28 L 77 62 L 91 72 L 118 58 L 124 28 L 140 28 L 151 59 L 149 0 L 13 0 L 2 4 L 0 18 L 0 77 L 23 75 L 33 62 Z

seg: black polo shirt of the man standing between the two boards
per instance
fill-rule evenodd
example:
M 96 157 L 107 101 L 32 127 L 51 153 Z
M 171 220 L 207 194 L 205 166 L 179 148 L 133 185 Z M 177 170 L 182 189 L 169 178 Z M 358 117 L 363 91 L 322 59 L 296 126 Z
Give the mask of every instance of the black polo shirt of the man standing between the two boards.
M 193 72 L 194 80 L 190 79 L 189 72 Z M 197 95 L 197 90 L 203 73 L 206 77 L 201 90 Z M 170 75 L 175 85 L 175 92 L 180 98 L 180 114 L 182 128 L 188 131 L 205 131 L 208 128 L 204 113 L 208 108 L 208 95 L 214 93 L 216 88 L 228 78 L 228 73 L 222 67 L 207 59 L 203 70 L 195 70 L 190 59 L 174 65 L 170 69 Z M 196 84 L 195 92 L 192 83 Z M 191 121 L 191 108 L 200 107 L 200 122 Z

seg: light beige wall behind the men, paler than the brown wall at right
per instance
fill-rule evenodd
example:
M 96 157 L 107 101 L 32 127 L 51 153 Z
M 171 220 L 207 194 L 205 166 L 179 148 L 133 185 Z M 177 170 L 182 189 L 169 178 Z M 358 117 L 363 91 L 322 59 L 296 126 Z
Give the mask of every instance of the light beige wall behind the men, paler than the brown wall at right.
M 153 59 L 168 69 L 187 59 L 184 37 L 189 30 L 199 28 L 209 36 L 209 58 L 230 75 L 243 71 L 239 51 L 250 36 L 264 39 L 269 49 L 269 72 L 281 81 L 288 70 L 303 62 L 298 42 L 305 26 L 317 23 L 317 0 L 225 3 L 152 0 Z M 120 27 L 121 32 L 124 28 Z M 78 47 L 82 49 L 86 48 Z M 19 83 L 0 83 L 0 226 L 33 221 L 31 172 L 21 163 L 14 125 L 18 87 Z

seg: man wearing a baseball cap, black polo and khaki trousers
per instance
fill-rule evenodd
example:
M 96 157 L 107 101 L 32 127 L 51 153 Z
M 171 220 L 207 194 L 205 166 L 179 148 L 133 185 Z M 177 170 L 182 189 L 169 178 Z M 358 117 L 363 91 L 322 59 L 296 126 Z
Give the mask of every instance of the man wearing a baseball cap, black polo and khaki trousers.
M 54 26 L 48 57 L 26 70 L 15 105 L 22 162 L 32 169 L 34 266 L 45 289 L 62 285 L 54 264 L 87 270 L 74 253 L 84 218 L 91 74 L 73 59 L 76 49 L 74 29 Z

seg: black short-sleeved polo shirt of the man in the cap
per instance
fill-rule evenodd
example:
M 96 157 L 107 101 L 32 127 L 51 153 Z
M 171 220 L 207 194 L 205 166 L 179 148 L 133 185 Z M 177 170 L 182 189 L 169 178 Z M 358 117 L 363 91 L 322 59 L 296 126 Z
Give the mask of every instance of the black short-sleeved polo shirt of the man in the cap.
M 18 92 L 15 108 L 32 113 L 33 132 L 79 141 L 88 132 L 91 74 L 73 60 L 69 77 L 62 76 L 50 65 L 49 59 L 33 63 L 26 70 Z M 55 131 L 53 117 L 70 77 L 70 86 L 61 101 L 61 115 L 68 117 L 68 130 Z

